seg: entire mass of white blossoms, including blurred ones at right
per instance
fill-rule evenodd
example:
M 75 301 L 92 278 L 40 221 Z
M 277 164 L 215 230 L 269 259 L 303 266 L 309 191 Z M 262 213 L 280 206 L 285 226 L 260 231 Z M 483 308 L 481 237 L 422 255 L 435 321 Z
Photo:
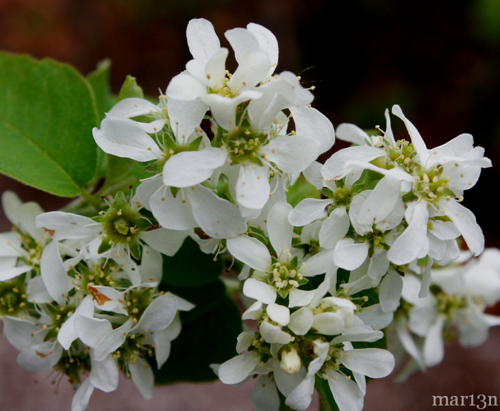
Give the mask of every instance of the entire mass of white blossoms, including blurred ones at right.
M 238 271 L 245 331 L 237 355 L 212 368 L 225 384 L 259 375 L 257 410 L 305 410 L 314 388 L 340 411 L 362 410 L 366 377 L 395 366 L 387 347 L 425 369 L 442 359 L 449 329 L 475 345 L 500 323 L 484 314 L 500 299 L 498 251 L 462 264 L 459 247 L 463 238 L 474 256 L 484 250 L 460 204 L 491 166 L 472 136 L 427 149 L 398 105 L 410 139 L 395 138 L 388 110 L 377 136 L 352 124 L 334 132 L 299 77 L 275 73 L 268 29 L 225 38 L 234 73 L 212 24 L 192 20 L 192 60 L 158 103 L 121 99 L 93 129 L 105 153 L 147 163 L 135 195 L 116 193 L 92 219 L 3 196 L 16 227 L 0 243 L 5 335 L 30 369 L 55 366 L 75 384 L 89 375 L 73 411 L 93 388 L 116 388 L 118 369 L 151 396 L 145 358 L 164 364 L 178 311 L 192 308 L 158 291 L 161 256 L 188 237 Z M 353 146 L 320 164 L 336 136 Z

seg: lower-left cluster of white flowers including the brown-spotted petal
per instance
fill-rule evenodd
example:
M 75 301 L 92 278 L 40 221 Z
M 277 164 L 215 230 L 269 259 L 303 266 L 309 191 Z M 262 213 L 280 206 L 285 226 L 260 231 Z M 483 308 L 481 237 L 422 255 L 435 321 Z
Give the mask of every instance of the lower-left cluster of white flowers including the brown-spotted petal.
M 119 370 L 151 398 L 149 358 L 164 364 L 181 329 L 179 310 L 193 306 L 158 290 L 161 254 L 138 240 L 155 242 L 147 219 L 123 193 L 97 221 L 44 213 L 9 191 L 2 203 L 14 227 L 0 234 L 0 316 L 21 351 L 18 363 L 67 375 L 73 411 L 86 408 L 95 388 L 115 390 Z

